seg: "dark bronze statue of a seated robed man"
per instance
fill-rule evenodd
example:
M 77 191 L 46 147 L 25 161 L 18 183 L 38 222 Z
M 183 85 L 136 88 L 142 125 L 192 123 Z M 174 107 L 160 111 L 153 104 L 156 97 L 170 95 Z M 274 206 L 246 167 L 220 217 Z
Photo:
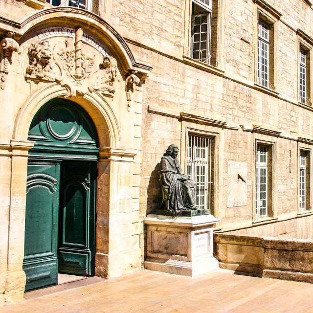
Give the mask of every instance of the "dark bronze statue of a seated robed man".
M 163 201 L 168 201 L 166 210 L 178 215 L 184 210 L 201 209 L 195 203 L 196 185 L 186 175 L 181 174 L 177 155 L 179 148 L 170 145 L 162 156 L 158 171 L 163 190 Z

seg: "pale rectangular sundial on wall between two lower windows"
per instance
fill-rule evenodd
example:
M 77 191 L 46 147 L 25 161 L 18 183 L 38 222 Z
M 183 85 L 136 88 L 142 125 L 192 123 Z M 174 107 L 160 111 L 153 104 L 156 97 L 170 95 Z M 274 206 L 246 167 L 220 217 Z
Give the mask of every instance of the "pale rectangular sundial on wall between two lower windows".
M 247 163 L 227 162 L 227 207 L 246 205 Z

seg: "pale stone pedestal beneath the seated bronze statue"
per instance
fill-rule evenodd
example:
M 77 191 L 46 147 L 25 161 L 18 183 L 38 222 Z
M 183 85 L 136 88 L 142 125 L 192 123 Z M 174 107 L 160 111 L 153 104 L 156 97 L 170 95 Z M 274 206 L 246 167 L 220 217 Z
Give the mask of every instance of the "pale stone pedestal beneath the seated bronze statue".
M 219 268 L 213 257 L 213 215 L 169 217 L 151 214 L 145 268 L 195 277 Z

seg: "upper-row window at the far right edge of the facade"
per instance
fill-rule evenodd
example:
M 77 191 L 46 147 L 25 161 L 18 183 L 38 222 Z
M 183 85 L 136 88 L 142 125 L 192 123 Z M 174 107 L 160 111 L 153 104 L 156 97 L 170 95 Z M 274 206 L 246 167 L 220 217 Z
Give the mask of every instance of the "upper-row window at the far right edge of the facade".
M 299 101 L 310 102 L 310 51 L 300 47 L 299 53 Z

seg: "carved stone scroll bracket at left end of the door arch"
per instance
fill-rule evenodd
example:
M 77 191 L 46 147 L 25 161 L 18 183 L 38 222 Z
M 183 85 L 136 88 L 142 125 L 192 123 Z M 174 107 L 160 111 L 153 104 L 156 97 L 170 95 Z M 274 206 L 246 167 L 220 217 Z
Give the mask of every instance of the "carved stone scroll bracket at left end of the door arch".
M 7 37 L 0 42 L 0 88 L 4 89 L 5 80 L 9 73 L 9 67 L 12 62 L 11 57 L 13 51 L 19 49 L 19 44 L 13 39 L 14 33 L 7 32 Z

